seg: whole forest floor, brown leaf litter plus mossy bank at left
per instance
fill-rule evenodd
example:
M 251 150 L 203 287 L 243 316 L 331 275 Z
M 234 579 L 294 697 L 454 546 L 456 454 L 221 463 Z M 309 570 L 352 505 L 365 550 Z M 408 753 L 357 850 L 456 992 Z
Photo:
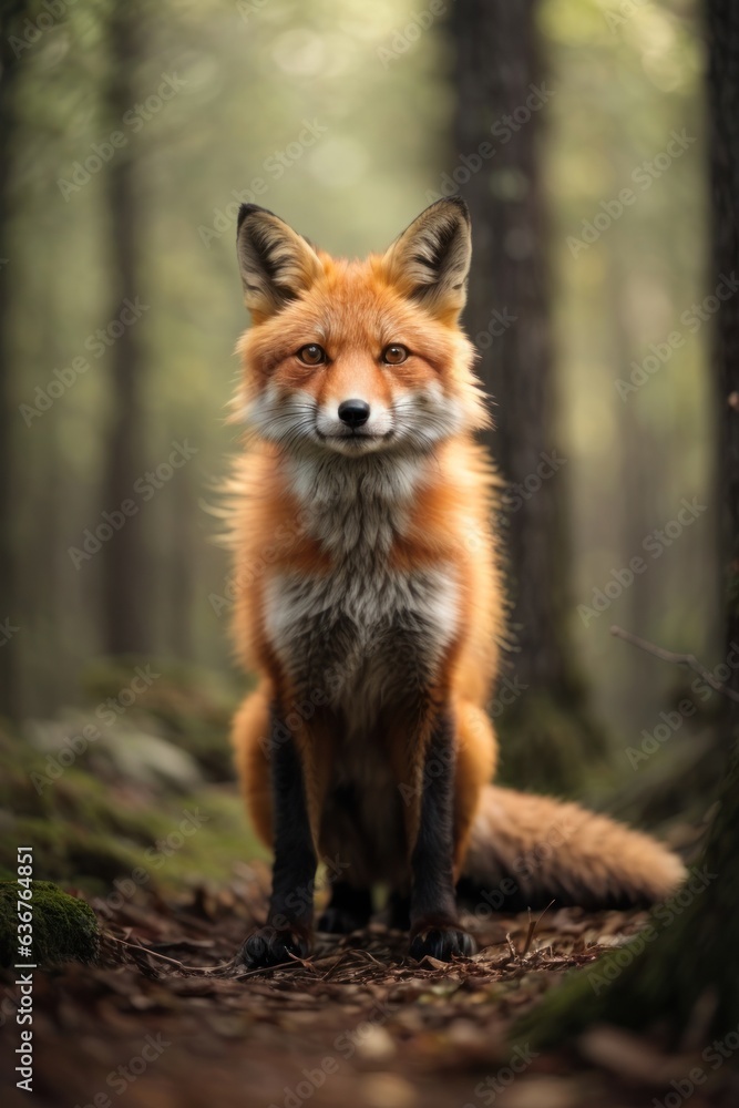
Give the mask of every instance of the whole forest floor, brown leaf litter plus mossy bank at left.
M 479 911 L 465 922 L 480 953 L 452 965 L 411 962 L 407 936 L 373 923 L 319 935 L 305 963 L 248 973 L 234 955 L 264 922 L 270 874 L 234 781 L 235 696 L 217 675 L 160 665 L 101 728 L 136 664 L 96 665 L 88 708 L 0 726 L 0 879 L 33 844 L 34 876 L 84 896 L 103 934 L 96 965 L 34 972 L 32 1094 L 16 1087 L 19 993 L 0 971 L 3 1108 L 739 1104 L 719 1054 L 668 1050 L 658 1032 L 591 1027 L 550 1051 L 524 1033 L 511 1054 L 519 1018 L 567 971 L 607 988 L 598 960 L 645 913 Z M 88 724 L 96 737 L 80 743 Z

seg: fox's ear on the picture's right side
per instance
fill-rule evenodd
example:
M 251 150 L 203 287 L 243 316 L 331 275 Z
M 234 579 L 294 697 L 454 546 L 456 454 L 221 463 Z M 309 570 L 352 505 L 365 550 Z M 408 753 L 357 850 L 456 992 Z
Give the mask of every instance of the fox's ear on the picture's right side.
M 390 281 L 432 315 L 453 317 L 466 300 L 472 239 L 463 199 L 437 201 L 398 236 L 382 261 Z

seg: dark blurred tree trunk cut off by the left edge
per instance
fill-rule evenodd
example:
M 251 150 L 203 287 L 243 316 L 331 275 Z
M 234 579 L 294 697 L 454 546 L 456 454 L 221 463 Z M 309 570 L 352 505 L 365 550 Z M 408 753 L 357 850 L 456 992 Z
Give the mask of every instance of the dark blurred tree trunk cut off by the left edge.
M 13 311 L 11 226 L 14 218 L 13 165 L 20 131 L 18 90 L 22 65 L 23 23 L 32 2 L 11 0 L 0 12 L 0 714 L 19 711 L 17 653 L 11 643 L 18 632 L 18 592 L 13 550 L 13 349 L 10 325 Z

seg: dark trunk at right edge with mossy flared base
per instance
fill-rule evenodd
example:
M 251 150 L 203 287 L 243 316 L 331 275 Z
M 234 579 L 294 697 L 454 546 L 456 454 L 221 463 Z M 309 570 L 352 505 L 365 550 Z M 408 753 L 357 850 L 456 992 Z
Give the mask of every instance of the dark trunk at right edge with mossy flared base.
M 711 287 L 739 261 L 739 8 L 708 0 Z M 720 427 L 717 469 L 725 495 L 726 656 L 739 642 L 739 297 L 716 316 L 714 380 Z M 727 681 L 739 694 L 739 670 Z M 528 1030 L 541 1044 L 596 1022 L 638 1028 L 655 1023 L 674 1038 L 688 1028 L 723 1038 L 739 1026 L 739 705 L 725 701 L 728 769 L 704 856 L 675 901 L 624 951 L 556 989 Z M 525 1033 L 526 1029 L 522 1028 Z

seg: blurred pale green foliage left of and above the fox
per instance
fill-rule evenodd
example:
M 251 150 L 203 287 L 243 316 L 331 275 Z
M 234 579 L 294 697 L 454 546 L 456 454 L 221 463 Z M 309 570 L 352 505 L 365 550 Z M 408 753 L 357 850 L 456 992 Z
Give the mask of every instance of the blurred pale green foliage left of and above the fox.
M 283 214 L 338 253 L 380 248 L 423 206 L 451 109 L 435 31 L 390 63 L 378 54 L 407 22 L 410 2 L 368 8 L 348 0 L 338 11 L 328 0 L 167 0 L 141 2 L 138 10 L 137 101 L 156 96 L 165 75 L 184 82 L 141 126 L 136 104 L 131 123 L 107 119 L 103 109 L 107 2 L 71 6 L 21 55 L 6 276 L 14 300 L 12 538 L 23 624 L 13 649 L 22 663 L 23 709 L 33 716 L 79 702 L 79 675 L 101 648 L 102 555 L 75 566 L 69 550 L 81 548 L 103 511 L 120 507 L 101 502 L 112 348 L 101 350 L 94 338 L 111 321 L 116 280 L 107 165 L 86 182 L 83 166 L 76 178 L 83 183 L 64 189 L 66 198 L 60 182 L 73 182 L 75 163 L 94 157 L 93 143 L 102 146 L 114 130 L 124 135 L 113 156 L 136 164 L 146 228 L 136 293 L 147 308 L 134 324 L 147 353 L 136 476 L 163 463 L 174 440 L 197 450 L 151 499 L 131 491 L 147 538 L 153 650 L 227 674 L 230 566 L 213 541 L 220 524 L 212 506 L 238 449 L 224 417 L 238 373 L 234 346 L 248 324 L 234 194 Z M 301 146 L 306 121 L 318 124 L 317 135 L 306 134 Z M 250 196 L 256 178 L 266 191 Z M 88 368 L 72 373 L 71 387 L 28 425 L 20 406 L 34 406 L 37 389 L 45 392 L 50 382 L 57 389 L 54 370 L 64 373 L 75 358 Z

